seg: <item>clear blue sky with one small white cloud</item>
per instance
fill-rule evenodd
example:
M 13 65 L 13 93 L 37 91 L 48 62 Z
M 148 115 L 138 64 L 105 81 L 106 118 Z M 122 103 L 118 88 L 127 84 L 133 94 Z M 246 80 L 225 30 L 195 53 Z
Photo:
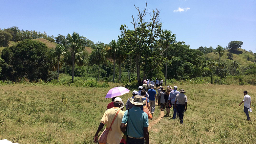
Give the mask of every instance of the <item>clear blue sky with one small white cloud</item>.
M 108 44 L 120 35 L 120 26 L 133 29 L 132 15 L 143 0 L 1 0 L 0 28 L 47 32 L 56 37 L 78 32 L 94 43 Z M 160 10 L 162 29 L 176 34 L 191 49 L 214 49 L 243 41 L 242 49 L 256 52 L 255 0 L 147 0 Z M 149 21 L 149 15 L 147 17 Z

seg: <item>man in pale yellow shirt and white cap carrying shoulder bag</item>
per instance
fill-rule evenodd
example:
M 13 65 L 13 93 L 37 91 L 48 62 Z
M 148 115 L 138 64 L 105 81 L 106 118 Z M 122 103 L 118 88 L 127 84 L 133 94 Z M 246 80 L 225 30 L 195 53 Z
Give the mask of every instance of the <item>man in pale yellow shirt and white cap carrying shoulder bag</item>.
M 115 105 L 115 107 L 108 109 L 104 113 L 103 117 L 101 118 L 99 127 L 94 136 L 95 143 L 97 143 L 97 141 L 98 141 L 98 133 L 101 131 L 101 129 L 104 127 L 105 124 L 106 124 L 106 128 L 110 127 L 110 125 L 111 125 L 112 121 L 114 120 L 118 111 L 119 111 L 119 113 L 117 114 L 117 117 L 113 121 L 113 124 L 111 126 L 111 131 L 109 131 L 109 133 L 108 133 L 107 143 L 108 144 L 119 144 L 120 143 L 120 140 L 123 136 L 120 126 L 121 126 L 122 118 L 124 115 L 124 111 L 120 110 L 120 107 L 122 105 L 122 99 L 120 97 L 116 97 L 114 100 L 114 105 Z

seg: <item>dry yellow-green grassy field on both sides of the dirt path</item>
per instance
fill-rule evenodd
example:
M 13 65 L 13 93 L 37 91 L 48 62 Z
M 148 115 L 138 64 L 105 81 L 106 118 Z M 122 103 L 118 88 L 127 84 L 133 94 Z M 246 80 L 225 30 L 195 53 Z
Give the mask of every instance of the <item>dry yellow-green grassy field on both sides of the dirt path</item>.
M 20 144 L 91 144 L 100 119 L 111 99 L 109 88 L 84 88 L 61 85 L 9 84 L 0 87 L 0 139 Z M 172 85 L 173 86 L 173 85 Z M 177 85 L 185 89 L 188 110 L 184 124 L 163 117 L 149 131 L 151 144 L 170 143 L 248 143 L 256 141 L 255 109 L 246 121 L 244 105 L 238 106 L 251 85 Z M 130 91 L 133 91 L 132 89 Z M 124 101 L 131 93 L 120 96 Z M 172 112 L 172 109 L 171 109 Z M 157 106 L 153 120 L 160 115 Z

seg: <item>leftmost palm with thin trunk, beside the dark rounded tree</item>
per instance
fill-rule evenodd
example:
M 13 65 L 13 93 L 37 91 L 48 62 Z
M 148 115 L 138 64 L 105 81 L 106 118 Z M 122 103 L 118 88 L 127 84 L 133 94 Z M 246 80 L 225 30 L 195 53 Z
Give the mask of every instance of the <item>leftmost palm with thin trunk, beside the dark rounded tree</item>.
M 66 48 L 62 44 L 57 44 L 54 49 L 50 50 L 50 56 L 51 58 L 57 58 L 58 63 L 58 75 L 57 80 L 59 82 L 59 65 L 60 65 L 60 56 L 66 54 Z

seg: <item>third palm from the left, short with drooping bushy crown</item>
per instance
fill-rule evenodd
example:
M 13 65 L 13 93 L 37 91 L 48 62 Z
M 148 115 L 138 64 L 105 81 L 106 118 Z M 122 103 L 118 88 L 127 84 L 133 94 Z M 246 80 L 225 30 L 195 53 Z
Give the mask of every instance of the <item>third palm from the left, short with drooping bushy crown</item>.
M 106 63 L 106 51 L 103 46 L 98 44 L 96 49 L 94 49 L 91 53 L 90 61 L 92 64 L 98 65 L 98 81 L 99 81 L 99 68 L 100 64 Z

